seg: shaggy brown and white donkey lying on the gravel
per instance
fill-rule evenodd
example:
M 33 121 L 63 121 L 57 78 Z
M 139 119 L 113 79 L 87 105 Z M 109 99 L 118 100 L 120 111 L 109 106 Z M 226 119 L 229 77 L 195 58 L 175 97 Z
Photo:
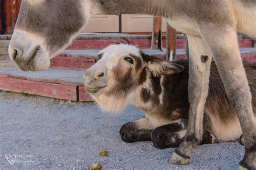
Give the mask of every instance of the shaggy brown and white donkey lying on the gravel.
M 204 56 L 201 58 L 204 59 Z M 256 63 L 244 63 L 256 116 Z M 133 104 L 145 118 L 124 124 L 125 142 L 153 141 L 158 148 L 177 147 L 187 130 L 188 60 L 164 62 L 137 47 L 110 45 L 86 71 L 85 89 L 107 112 L 120 112 Z M 235 141 L 242 135 L 238 115 L 227 98 L 217 67 L 211 64 L 201 144 Z

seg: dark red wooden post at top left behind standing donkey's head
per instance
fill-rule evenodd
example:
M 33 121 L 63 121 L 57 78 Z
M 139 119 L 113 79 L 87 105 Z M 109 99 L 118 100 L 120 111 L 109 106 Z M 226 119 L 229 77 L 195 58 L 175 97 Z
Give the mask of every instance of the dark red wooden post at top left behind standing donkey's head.
M 18 18 L 22 0 L 5 1 L 5 33 L 12 34 Z

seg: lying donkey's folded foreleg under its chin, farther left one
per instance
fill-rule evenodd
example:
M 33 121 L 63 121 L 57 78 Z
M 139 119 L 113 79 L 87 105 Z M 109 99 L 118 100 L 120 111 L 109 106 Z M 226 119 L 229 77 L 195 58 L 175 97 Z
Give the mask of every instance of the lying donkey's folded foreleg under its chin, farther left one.
M 124 124 L 120 128 L 120 135 L 125 142 L 151 141 L 150 123 L 146 118 Z

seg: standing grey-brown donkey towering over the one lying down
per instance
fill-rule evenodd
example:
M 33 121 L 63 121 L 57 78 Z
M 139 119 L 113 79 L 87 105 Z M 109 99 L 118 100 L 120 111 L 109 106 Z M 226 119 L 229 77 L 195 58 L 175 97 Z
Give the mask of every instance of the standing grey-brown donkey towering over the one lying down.
M 190 50 L 186 137 L 172 164 L 187 164 L 203 137 L 203 114 L 212 57 L 245 139 L 241 168 L 256 169 L 256 120 L 237 32 L 256 38 L 255 0 L 23 0 L 9 55 L 25 71 L 43 70 L 95 13 L 163 16 L 186 33 Z M 206 56 L 201 60 L 201 56 Z

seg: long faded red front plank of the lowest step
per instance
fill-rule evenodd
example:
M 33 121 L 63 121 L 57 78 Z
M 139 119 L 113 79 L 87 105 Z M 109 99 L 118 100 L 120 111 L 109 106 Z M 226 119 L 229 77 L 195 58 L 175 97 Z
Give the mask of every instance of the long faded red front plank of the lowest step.
M 0 77 L 0 89 L 18 93 L 77 101 L 77 87 Z

